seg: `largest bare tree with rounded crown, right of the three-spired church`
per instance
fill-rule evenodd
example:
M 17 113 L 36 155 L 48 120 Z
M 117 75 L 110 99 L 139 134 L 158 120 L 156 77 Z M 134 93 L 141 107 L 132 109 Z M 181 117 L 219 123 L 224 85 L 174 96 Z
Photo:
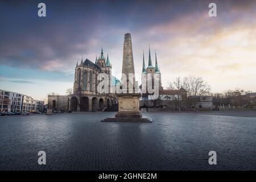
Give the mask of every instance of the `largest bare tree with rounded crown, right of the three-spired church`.
M 188 92 L 188 96 L 192 99 L 192 105 L 196 111 L 196 97 L 205 96 L 210 92 L 210 86 L 202 77 L 184 77 L 183 87 Z

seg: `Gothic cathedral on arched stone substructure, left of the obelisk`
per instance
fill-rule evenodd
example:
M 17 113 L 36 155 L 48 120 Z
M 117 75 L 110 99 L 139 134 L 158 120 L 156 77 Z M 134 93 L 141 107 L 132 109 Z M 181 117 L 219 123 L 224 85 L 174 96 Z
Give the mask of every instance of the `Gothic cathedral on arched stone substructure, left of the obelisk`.
M 100 73 L 106 73 L 109 79 L 109 90 L 118 84 L 119 80 L 112 76 L 112 65 L 109 55 L 105 58 L 103 49 L 96 57 L 95 63 L 89 59 L 77 61 L 73 93 L 68 96 L 49 95 L 48 108 L 63 111 L 100 111 L 112 105 L 117 105 L 117 97 L 112 93 L 98 93 L 97 87 Z

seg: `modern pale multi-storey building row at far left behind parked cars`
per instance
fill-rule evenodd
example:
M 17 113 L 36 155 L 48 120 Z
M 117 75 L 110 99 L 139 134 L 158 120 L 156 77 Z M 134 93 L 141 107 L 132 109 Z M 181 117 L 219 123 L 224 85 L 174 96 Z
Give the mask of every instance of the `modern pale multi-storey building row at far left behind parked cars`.
M 34 100 L 24 94 L 0 90 L 0 111 L 43 111 L 44 101 Z

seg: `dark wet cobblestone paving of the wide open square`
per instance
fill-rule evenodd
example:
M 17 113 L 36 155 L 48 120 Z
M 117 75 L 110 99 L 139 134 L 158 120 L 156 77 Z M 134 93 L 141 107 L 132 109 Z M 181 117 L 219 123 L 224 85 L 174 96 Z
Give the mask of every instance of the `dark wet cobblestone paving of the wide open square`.
M 146 113 L 152 123 L 100 122 L 114 114 L 2 116 L 0 169 L 256 169 L 256 117 Z M 217 165 L 208 164 L 212 150 Z

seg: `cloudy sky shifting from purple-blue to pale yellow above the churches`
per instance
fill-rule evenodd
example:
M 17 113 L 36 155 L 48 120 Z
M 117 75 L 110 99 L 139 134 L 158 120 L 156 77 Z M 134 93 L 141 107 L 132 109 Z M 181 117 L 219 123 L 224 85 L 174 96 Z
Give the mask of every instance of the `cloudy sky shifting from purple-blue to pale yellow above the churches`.
M 38 16 L 40 2 L 46 17 Z M 208 15 L 211 2 L 217 17 Z M 164 87 L 179 76 L 200 76 L 212 92 L 256 92 L 256 1 L 182 0 L 1 1 L 0 89 L 37 100 L 65 94 L 77 61 L 94 62 L 102 47 L 118 74 L 127 32 L 138 75 L 150 44 Z

